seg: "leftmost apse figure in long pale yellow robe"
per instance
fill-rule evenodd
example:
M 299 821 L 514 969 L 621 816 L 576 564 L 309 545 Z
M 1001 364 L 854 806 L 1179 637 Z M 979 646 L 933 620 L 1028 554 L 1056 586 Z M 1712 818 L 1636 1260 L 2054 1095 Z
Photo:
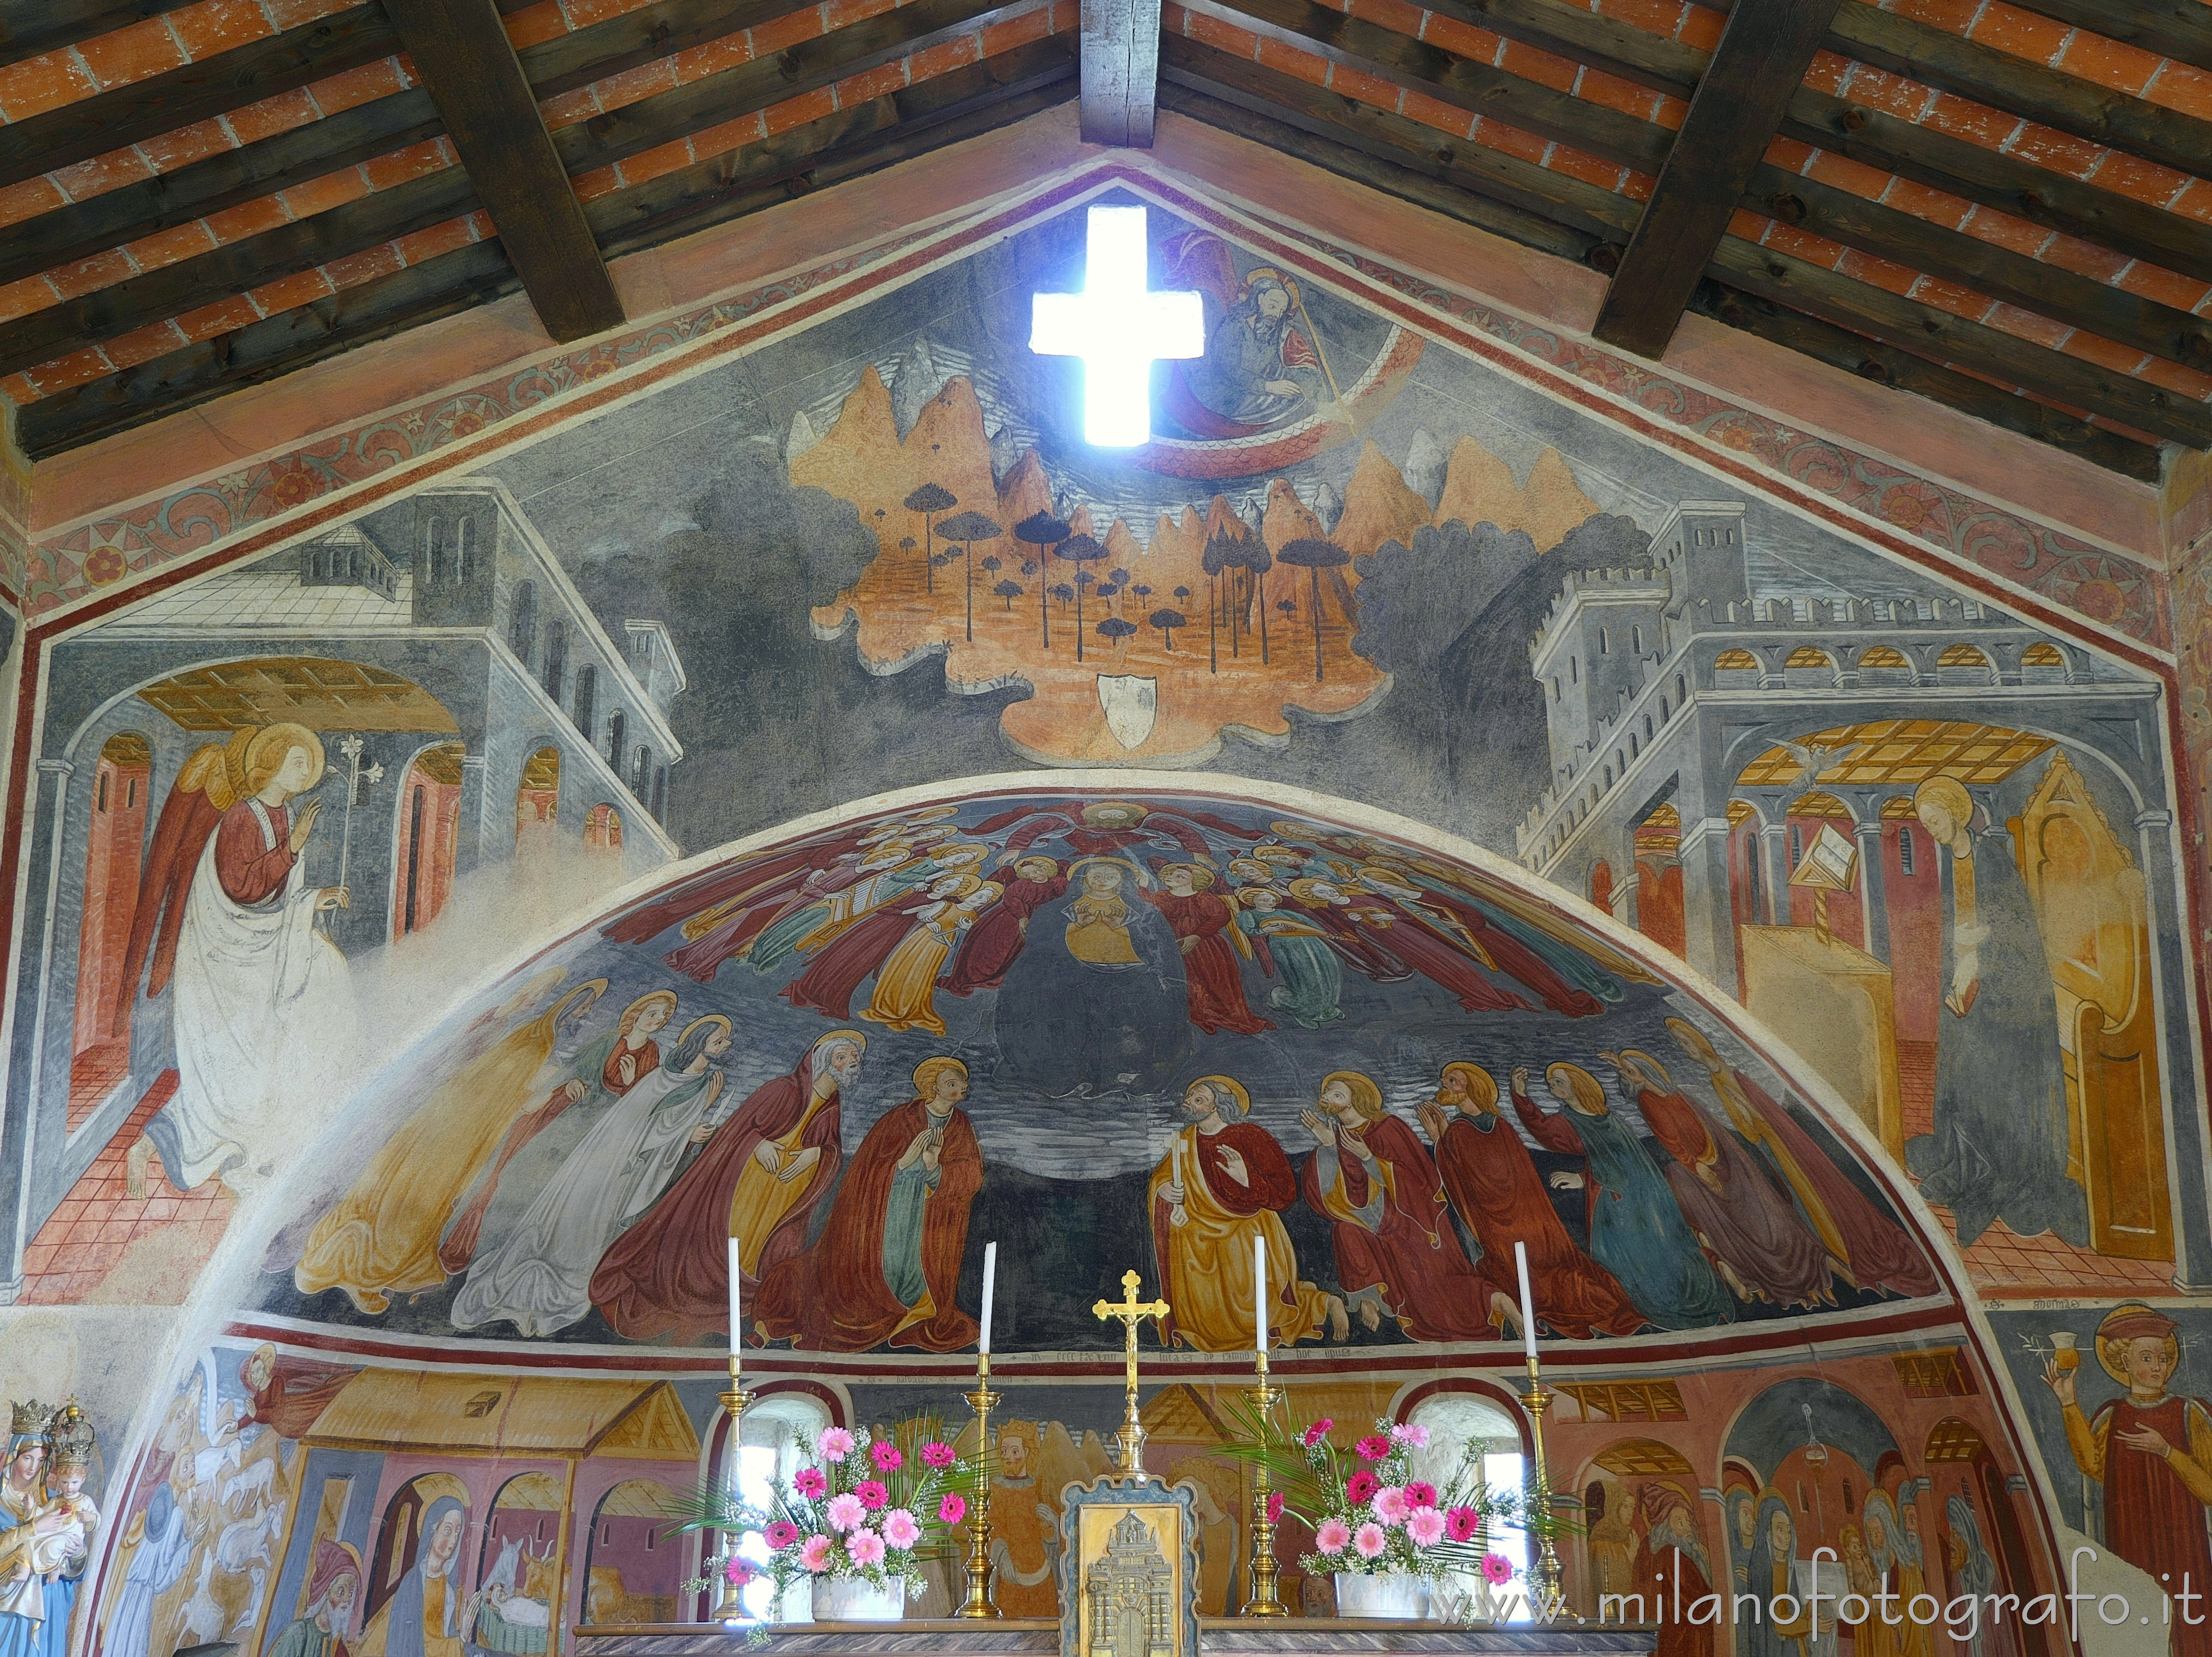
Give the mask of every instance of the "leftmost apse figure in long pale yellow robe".
M 507 1128 L 531 1108 L 531 1082 L 553 1046 L 577 1033 L 604 991 L 604 978 L 577 984 L 431 1093 L 307 1232 L 307 1252 L 292 1268 L 299 1292 L 345 1290 L 376 1314 L 394 1294 L 442 1288 L 438 1237 Z

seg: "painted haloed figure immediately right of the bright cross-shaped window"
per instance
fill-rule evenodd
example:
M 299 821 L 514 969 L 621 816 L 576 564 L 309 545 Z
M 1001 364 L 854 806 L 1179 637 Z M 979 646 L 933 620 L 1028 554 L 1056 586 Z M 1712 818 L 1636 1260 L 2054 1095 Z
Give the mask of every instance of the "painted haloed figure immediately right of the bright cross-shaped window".
M 1168 288 L 1206 303 L 1206 354 L 1168 372 L 1168 414 L 1194 438 L 1250 438 L 1336 403 L 1321 336 L 1290 272 L 1237 274 L 1230 246 L 1203 230 L 1161 243 Z

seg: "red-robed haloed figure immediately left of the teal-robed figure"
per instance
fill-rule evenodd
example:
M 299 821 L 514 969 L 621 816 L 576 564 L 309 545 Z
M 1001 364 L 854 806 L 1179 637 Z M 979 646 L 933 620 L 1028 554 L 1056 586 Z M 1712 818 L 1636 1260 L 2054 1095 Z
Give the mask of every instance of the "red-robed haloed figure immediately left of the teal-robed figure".
M 1436 1100 L 1420 1106 L 1436 1166 L 1467 1230 L 1482 1243 L 1475 1276 L 1493 1327 L 1520 1325 L 1513 1243 L 1528 1246 L 1528 1292 L 1537 1323 L 1571 1341 L 1635 1334 L 1644 1314 L 1604 1265 L 1582 1252 L 1544 1192 L 1535 1157 L 1498 1113 L 1498 1082 L 1480 1064 L 1447 1064 Z

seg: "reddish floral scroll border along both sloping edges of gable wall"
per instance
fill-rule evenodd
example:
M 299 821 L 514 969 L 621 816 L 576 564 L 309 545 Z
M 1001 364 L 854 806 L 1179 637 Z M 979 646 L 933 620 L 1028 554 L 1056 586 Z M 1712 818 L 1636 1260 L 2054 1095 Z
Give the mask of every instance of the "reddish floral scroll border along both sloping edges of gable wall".
M 1095 179 L 1099 173 L 1152 188 L 1164 186 L 1155 173 L 1124 164 L 1102 164 L 1086 170 L 1084 177 Z M 1077 179 L 1073 188 L 1079 190 L 1082 184 L 1084 179 Z M 1170 190 L 1170 195 L 1175 192 Z M 1433 312 L 1471 323 L 1559 374 L 1599 387 L 1708 445 L 1741 456 L 1776 480 L 1827 496 L 1902 531 L 1920 546 L 1997 575 L 2011 586 L 2026 588 L 2057 608 L 2095 622 L 2099 628 L 2121 633 L 2161 653 L 2172 648 L 2168 580 L 2148 564 L 2075 540 L 2024 513 L 1913 473 L 1893 460 L 1798 431 L 1759 409 L 1674 378 L 1657 365 L 1615 356 L 1593 341 L 1531 323 L 1442 288 L 1418 272 L 1329 243 L 1294 226 L 1270 223 L 1270 228 Z M 210 551 L 254 524 L 363 482 L 376 471 L 416 460 L 458 438 L 476 436 L 617 367 L 659 356 L 745 321 L 770 305 L 807 294 L 827 281 L 880 263 L 898 248 L 927 235 L 931 232 L 918 230 L 880 248 L 845 254 L 624 336 L 577 352 L 555 352 L 520 369 L 487 376 L 460 392 L 376 416 L 288 454 L 137 502 L 119 513 L 82 520 L 29 549 L 20 586 L 22 608 L 29 617 L 49 617 L 126 575 Z

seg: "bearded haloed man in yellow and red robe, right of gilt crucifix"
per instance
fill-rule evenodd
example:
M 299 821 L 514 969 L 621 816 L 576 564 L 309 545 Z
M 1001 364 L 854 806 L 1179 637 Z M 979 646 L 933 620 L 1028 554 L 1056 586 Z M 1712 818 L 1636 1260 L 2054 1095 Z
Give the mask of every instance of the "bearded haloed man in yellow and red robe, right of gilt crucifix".
M 1199 1352 L 1250 1347 L 1252 1239 L 1267 1246 L 1267 1327 L 1281 1345 L 1327 1323 L 1336 1341 L 1352 1332 L 1345 1303 L 1298 1281 L 1298 1257 L 1281 1210 L 1298 1199 L 1283 1146 L 1254 1122 L 1241 1082 L 1208 1075 L 1183 1091 L 1183 1126 L 1152 1168 L 1152 1257 L 1166 1301 L 1161 1332 Z

